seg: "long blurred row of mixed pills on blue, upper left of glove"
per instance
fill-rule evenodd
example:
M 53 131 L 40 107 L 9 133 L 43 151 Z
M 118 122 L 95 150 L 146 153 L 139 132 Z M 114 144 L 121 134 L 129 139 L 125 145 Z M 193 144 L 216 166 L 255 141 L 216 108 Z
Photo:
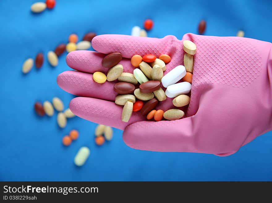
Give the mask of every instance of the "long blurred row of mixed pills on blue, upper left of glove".
M 58 57 L 62 55 L 65 50 L 69 53 L 75 50 L 87 50 L 91 47 L 91 40 L 96 36 L 96 33 L 89 32 L 83 36 L 82 41 L 78 42 L 78 36 L 76 34 L 71 34 L 69 36 L 68 44 L 59 44 L 54 51 L 49 51 L 47 53 L 47 59 L 51 66 L 56 67 L 58 65 Z M 78 42 L 78 43 L 77 43 Z M 44 63 L 43 53 L 38 53 L 35 58 L 35 66 L 40 69 Z M 34 65 L 34 60 L 28 58 L 24 61 L 22 66 L 22 72 L 24 74 L 28 73 Z

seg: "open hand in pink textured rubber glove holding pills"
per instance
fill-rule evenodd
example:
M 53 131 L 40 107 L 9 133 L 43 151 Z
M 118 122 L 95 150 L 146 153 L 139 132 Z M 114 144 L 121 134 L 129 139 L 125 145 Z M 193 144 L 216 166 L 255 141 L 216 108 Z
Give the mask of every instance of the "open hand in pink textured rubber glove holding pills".
M 164 74 L 183 65 L 183 40 L 197 46 L 191 101 L 185 117 L 176 121 L 147 121 L 133 112 L 128 123 L 121 121 L 123 106 L 114 103 L 115 82 L 98 84 L 92 73 L 108 68 L 101 65 L 105 54 L 120 52 L 124 72 L 133 73 L 134 54 L 168 54 L 172 60 Z M 185 34 L 162 39 L 125 35 L 100 35 L 92 40 L 98 52 L 74 51 L 67 55 L 66 71 L 57 78 L 65 91 L 78 95 L 70 102 L 77 116 L 124 130 L 124 142 L 135 149 L 163 152 L 198 152 L 227 156 L 272 126 L 272 44 L 241 38 Z M 165 90 L 165 88 L 164 88 Z M 156 109 L 176 108 L 173 98 Z

